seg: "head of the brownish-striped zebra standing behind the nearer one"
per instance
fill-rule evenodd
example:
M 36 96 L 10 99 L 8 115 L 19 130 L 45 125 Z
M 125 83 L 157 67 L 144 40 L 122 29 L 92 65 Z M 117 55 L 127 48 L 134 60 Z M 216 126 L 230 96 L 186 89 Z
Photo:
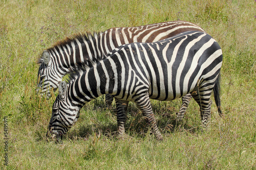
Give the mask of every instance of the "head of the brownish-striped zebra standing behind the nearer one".
M 38 64 L 40 64 L 40 66 L 37 75 L 36 92 L 38 93 L 41 91 L 42 94 L 46 94 L 47 98 L 50 98 L 51 88 L 55 91 L 62 78 L 56 71 L 53 71 L 54 64 L 51 60 L 51 54 L 48 51 L 42 53 L 42 57 L 39 59 Z

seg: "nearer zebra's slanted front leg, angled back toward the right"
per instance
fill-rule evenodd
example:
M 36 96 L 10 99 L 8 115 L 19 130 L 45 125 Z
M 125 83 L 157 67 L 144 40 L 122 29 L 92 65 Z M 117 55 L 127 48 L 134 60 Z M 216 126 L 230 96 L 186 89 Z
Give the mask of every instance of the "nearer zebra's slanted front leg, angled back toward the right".
M 156 138 L 158 140 L 163 140 L 163 136 L 157 127 L 156 118 L 152 110 L 148 93 L 144 96 L 140 96 L 139 98 L 137 98 L 135 100 L 135 103 L 137 104 L 138 108 L 142 111 L 142 114 L 145 117 L 147 124 L 152 127 L 153 133 L 155 134 Z

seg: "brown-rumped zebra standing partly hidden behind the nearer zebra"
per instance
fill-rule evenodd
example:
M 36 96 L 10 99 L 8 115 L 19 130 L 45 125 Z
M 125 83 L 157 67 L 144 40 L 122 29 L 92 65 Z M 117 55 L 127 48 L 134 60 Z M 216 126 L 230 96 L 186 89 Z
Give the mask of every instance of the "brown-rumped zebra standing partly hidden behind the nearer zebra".
M 103 33 L 78 34 L 62 40 L 53 47 L 44 51 L 38 59 L 40 64 L 37 76 L 37 89 L 46 93 L 50 98 L 50 90 L 57 89 L 62 78 L 69 74 L 70 70 L 76 69 L 77 64 L 87 63 L 88 60 L 102 59 L 116 47 L 131 42 L 154 42 L 172 37 L 185 31 L 204 30 L 187 21 L 169 21 L 154 23 L 140 27 L 112 28 Z M 191 95 L 182 98 L 182 107 L 177 113 L 177 118 L 184 117 Z M 107 106 L 112 105 L 113 98 L 105 95 Z

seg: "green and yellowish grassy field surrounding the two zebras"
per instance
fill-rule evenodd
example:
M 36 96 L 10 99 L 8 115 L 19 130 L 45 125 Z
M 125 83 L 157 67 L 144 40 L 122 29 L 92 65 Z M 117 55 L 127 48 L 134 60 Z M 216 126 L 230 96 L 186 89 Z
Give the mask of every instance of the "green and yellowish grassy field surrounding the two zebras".
M 0 1 L 0 169 L 256 169 L 255 9 L 254 0 Z M 62 144 L 45 138 L 55 99 L 35 93 L 35 61 L 46 48 L 79 32 L 173 20 L 196 23 L 222 47 L 223 118 L 212 105 L 202 131 L 196 102 L 176 122 L 181 100 L 152 101 L 164 136 L 157 141 L 131 103 L 118 140 L 101 97 L 82 108 Z

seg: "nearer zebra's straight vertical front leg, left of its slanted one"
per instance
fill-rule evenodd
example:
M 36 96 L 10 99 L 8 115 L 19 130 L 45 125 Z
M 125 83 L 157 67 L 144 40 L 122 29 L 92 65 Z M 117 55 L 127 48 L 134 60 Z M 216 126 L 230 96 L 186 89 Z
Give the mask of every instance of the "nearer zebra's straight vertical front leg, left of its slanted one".
M 124 135 L 124 125 L 126 122 L 126 113 L 129 101 L 122 101 L 116 99 L 116 109 L 117 109 L 117 132 L 119 138 L 123 139 Z

